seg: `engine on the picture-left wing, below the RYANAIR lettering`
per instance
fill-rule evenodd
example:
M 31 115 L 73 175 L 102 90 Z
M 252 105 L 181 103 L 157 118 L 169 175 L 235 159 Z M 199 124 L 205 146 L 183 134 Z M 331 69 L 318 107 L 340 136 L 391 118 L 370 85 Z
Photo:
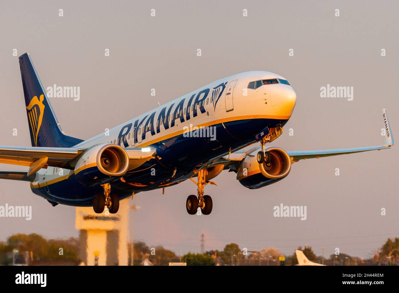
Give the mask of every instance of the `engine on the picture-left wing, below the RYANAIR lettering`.
M 75 165 L 75 177 L 85 186 L 109 183 L 128 170 L 129 157 L 119 145 L 101 144 L 86 150 Z

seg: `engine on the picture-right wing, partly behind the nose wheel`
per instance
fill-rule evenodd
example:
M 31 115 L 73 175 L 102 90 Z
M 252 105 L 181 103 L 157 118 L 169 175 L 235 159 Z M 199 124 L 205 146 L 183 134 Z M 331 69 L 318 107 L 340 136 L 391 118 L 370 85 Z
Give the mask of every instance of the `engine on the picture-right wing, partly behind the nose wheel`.
M 237 170 L 237 180 L 249 189 L 257 189 L 273 184 L 288 175 L 291 171 L 291 158 L 279 147 L 269 147 L 265 150 L 270 154 L 270 164 L 259 164 L 257 152 L 246 156 Z

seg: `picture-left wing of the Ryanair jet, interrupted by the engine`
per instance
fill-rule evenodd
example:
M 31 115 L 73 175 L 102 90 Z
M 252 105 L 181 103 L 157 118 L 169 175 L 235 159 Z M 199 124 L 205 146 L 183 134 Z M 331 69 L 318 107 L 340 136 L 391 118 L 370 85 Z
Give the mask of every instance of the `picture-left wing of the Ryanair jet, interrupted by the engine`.
M 152 158 L 156 152 L 153 147 L 144 148 L 125 148 L 129 157 L 129 170 L 135 169 Z M 0 163 L 28 166 L 26 172 L 27 177 L 23 177 L 23 173 L 10 173 L 11 171 L 0 171 L 0 179 L 25 180 L 31 175 L 38 172 L 41 168 L 59 167 L 65 169 L 73 169 L 77 159 L 85 152 L 87 148 L 49 148 L 49 147 L 10 147 L 0 146 Z M 8 178 L 5 178 L 7 177 Z M 22 177 L 21 177 L 22 176 Z M 13 177 L 13 178 L 11 178 Z

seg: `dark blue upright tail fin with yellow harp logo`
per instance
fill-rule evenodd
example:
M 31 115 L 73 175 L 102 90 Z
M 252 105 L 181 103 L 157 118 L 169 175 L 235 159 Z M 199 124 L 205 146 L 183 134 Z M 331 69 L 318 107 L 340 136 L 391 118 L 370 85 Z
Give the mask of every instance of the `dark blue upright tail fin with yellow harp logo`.
M 32 147 L 72 147 L 82 140 L 63 133 L 29 53 L 20 56 Z

